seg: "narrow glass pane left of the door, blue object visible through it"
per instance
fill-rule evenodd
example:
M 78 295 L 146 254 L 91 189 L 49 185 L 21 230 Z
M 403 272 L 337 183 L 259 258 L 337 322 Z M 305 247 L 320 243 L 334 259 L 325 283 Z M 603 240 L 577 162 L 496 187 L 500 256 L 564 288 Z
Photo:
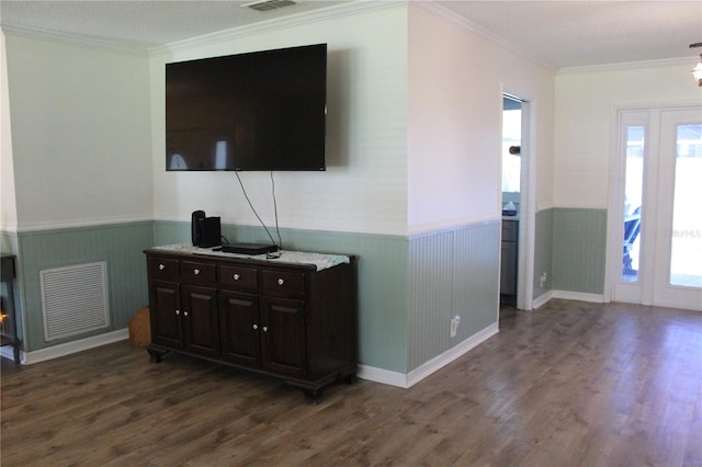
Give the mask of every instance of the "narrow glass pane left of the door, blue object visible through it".
M 641 246 L 641 210 L 644 181 L 643 126 L 626 127 L 624 180 L 624 239 L 622 244 L 622 281 L 638 282 Z

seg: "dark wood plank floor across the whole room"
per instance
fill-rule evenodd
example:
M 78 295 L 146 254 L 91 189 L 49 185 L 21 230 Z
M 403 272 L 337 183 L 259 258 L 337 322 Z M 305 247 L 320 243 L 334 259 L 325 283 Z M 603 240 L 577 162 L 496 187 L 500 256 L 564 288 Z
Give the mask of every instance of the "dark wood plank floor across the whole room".
M 117 343 L 2 363 L 10 466 L 702 466 L 702 314 L 552 300 L 410 389 L 319 406 Z

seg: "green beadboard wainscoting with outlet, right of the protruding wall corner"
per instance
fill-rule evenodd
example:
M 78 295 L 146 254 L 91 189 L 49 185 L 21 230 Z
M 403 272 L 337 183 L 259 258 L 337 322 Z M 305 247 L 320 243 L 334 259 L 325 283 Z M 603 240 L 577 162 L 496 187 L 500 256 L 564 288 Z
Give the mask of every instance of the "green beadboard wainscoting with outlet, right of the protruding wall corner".
M 500 220 L 412 237 L 408 371 L 497 322 Z M 451 318 L 461 321 L 451 337 Z

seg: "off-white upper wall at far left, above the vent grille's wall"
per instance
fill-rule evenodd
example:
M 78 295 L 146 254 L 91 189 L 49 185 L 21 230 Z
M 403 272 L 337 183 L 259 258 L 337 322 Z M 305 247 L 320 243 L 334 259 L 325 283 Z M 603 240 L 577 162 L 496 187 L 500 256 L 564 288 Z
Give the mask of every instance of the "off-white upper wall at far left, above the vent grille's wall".
M 19 229 L 149 219 L 147 56 L 14 34 L 5 46 Z

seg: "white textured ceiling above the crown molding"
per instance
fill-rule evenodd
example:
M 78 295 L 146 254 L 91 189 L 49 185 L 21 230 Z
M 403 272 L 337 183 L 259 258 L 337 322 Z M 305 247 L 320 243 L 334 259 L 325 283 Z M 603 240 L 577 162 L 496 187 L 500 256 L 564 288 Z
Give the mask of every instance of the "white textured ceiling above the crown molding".
M 298 0 L 293 7 L 258 12 L 241 8 L 248 1 L 0 0 L 0 25 L 148 48 L 351 3 Z M 433 4 L 553 69 L 679 57 L 693 62 L 702 52 L 688 47 L 702 42 L 700 0 L 437 0 Z

